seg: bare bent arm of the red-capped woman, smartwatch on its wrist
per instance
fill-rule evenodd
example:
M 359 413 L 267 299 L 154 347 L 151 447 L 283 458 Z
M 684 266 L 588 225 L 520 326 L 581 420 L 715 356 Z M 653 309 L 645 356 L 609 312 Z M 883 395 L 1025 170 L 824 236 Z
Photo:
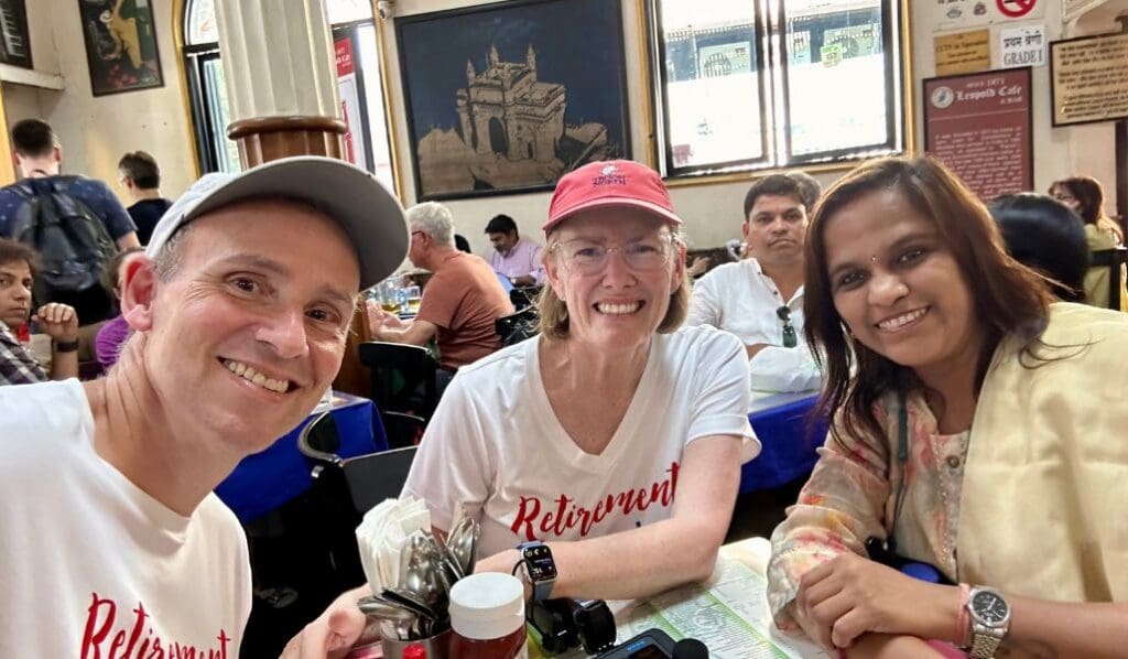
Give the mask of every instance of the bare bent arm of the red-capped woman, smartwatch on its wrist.
M 713 573 L 740 485 L 741 439 L 703 437 L 686 447 L 669 519 L 578 542 L 548 543 L 556 560 L 553 597 L 631 599 Z M 610 560 L 609 560 L 610 559 Z M 482 560 L 478 572 L 510 572 L 506 550 Z

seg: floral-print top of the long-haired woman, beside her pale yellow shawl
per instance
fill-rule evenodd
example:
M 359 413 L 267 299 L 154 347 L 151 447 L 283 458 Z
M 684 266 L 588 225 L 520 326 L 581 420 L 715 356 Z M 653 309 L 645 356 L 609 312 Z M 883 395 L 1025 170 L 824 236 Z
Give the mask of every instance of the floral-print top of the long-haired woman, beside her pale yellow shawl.
M 901 512 L 893 529 L 897 553 L 931 563 L 955 580 L 969 433 L 940 434 L 924 397 L 910 395 L 908 459 L 902 465 L 897 458 L 898 411 L 896 394 L 874 405 L 874 414 L 885 429 L 885 437 L 878 441 L 863 441 L 845 432 L 840 441 L 828 437 L 799 502 L 772 534 L 768 604 L 782 629 L 794 629 L 796 623 L 807 626 L 787 606 L 807 571 L 845 552 L 864 556 L 867 537 L 889 536 L 902 482 Z

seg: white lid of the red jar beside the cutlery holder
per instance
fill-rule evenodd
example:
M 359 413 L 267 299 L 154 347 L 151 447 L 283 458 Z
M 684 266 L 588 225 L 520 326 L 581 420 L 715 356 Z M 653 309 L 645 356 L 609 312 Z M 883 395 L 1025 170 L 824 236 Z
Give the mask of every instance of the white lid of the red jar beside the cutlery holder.
M 450 626 L 465 639 L 502 639 L 525 625 L 525 587 L 517 577 L 482 572 L 450 589 Z

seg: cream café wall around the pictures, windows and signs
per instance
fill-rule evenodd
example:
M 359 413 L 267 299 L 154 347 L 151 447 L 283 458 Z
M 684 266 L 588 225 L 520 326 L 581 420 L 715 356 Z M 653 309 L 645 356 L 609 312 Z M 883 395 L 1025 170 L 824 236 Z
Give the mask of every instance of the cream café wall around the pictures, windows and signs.
M 1095 34 L 1116 28 L 1112 21 L 1114 7 L 1123 8 L 1123 2 L 1112 1 L 1085 16 L 1067 34 L 1061 26 L 1059 2 L 1047 3 L 1041 19 L 1047 25 L 1048 36 L 1059 38 Z M 9 100 L 9 88 L 5 86 L 8 121 L 14 122 L 39 113 L 59 131 L 64 144 L 68 170 L 82 172 L 107 181 L 116 179 L 118 156 L 132 149 L 151 151 L 165 170 L 165 192 L 176 195 L 194 178 L 195 164 L 191 142 L 191 128 L 180 96 L 177 72 L 178 53 L 174 52 L 173 0 L 151 0 L 159 28 L 161 65 L 165 87 L 153 90 L 133 91 L 94 98 L 89 89 L 89 74 L 82 45 L 81 26 L 77 3 L 73 0 L 35 0 L 28 2 L 29 21 L 33 33 L 33 49 L 36 67 L 46 72 L 58 72 L 64 78 L 64 89 L 60 91 L 21 88 Z M 472 0 L 398 0 L 394 11 L 397 16 L 408 16 L 423 11 L 438 11 L 457 7 L 478 5 Z M 919 10 L 919 2 L 910 2 L 918 9 L 914 19 L 914 79 L 915 93 L 919 93 L 920 80 L 934 74 L 933 36 L 936 26 L 927 25 Z M 623 0 L 625 43 L 627 46 L 627 79 L 632 117 L 632 143 L 635 157 L 649 160 L 647 131 L 642 78 L 638 0 Z M 50 29 L 45 29 L 49 26 Z M 399 68 L 396 61 L 395 29 L 393 21 L 380 24 L 385 39 L 382 52 L 390 55 L 387 62 L 389 81 L 389 104 L 393 109 L 393 125 L 397 144 L 400 172 L 407 179 L 402 181 L 402 193 L 406 203 L 414 203 L 414 182 L 411 176 L 411 156 L 407 144 L 407 128 L 404 120 L 403 88 L 399 85 Z M 52 43 L 43 41 L 51 37 Z M 56 68 L 52 68 L 56 62 Z M 1048 69 L 1034 70 L 1034 179 L 1038 190 L 1046 190 L 1050 182 L 1060 176 L 1085 173 L 1105 183 L 1109 195 L 1108 209 L 1116 209 L 1113 129 L 1111 123 L 1051 129 L 1049 120 Z M 917 108 L 916 125 L 920 125 Z M 918 137 L 918 143 L 923 139 Z M 819 174 L 823 183 L 829 183 L 838 173 Z M 740 209 L 744 191 L 751 175 L 738 182 L 681 184 L 671 183 L 675 207 L 686 220 L 689 241 L 695 246 L 716 246 L 731 237 L 739 236 L 742 218 Z M 478 253 L 485 253 L 488 244 L 483 229 L 488 219 L 505 212 L 518 220 L 521 231 L 537 236 L 539 225 L 548 210 L 548 193 L 505 195 L 478 200 L 451 201 L 459 231 L 470 239 Z

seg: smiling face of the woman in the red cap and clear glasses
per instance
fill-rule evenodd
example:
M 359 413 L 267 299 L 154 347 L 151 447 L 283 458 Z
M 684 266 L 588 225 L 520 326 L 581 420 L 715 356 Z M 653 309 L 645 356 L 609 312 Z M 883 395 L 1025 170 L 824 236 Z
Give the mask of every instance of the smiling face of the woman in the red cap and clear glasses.
M 546 273 L 567 306 L 569 336 L 602 348 L 650 341 L 685 276 L 684 248 L 663 220 L 641 210 L 578 213 L 553 231 L 549 245 Z M 593 267 L 605 249 L 605 263 Z

